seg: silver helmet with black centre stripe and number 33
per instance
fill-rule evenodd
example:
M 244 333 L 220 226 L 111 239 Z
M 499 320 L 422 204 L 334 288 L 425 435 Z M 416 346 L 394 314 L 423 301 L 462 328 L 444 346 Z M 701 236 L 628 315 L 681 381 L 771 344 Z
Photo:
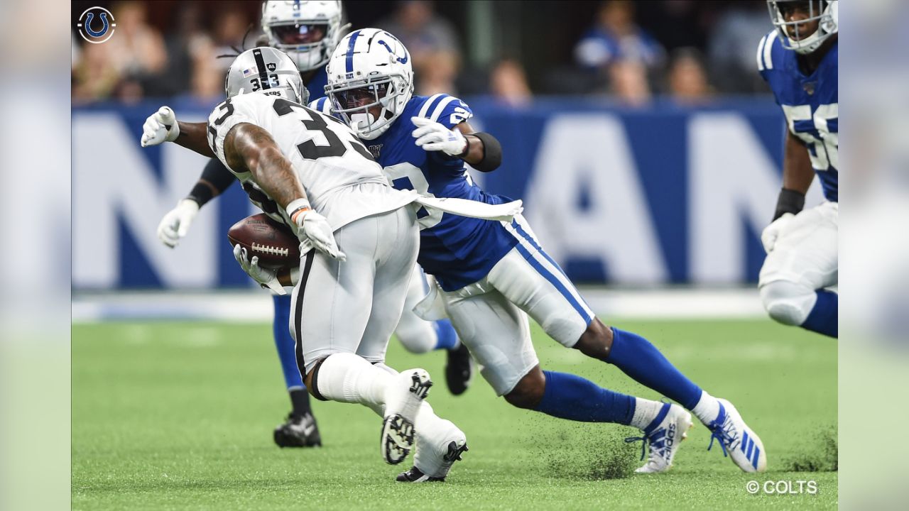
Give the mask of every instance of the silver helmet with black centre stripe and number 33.
M 279 93 L 301 105 L 309 99 L 309 91 L 303 86 L 294 61 L 281 50 L 267 46 L 237 55 L 225 78 L 228 98 L 259 91 Z

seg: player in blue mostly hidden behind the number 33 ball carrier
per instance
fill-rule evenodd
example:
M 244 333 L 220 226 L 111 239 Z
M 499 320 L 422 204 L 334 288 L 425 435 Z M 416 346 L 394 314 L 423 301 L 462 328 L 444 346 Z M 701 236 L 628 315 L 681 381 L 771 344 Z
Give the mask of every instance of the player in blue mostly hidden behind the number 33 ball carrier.
M 262 5 L 262 28 L 268 37 L 268 45 L 281 49 L 289 55 L 300 70 L 300 77 L 310 97 L 325 95 L 325 64 L 344 32 L 341 25 L 342 7 L 340 2 L 268 1 Z M 160 125 L 169 126 L 159 129 Z M 177 122 L 174 112 L 162 107 L 146 122 L 143 145 L 155 145 L 164 141 L 176 142 L 190 148 L 207 145 L 205 123 Z M 165 134 L 160 139 L 155 134 Z M 235 177 L 217 158 L 211 159 L 189 195 L 168 212 L 158 225 L 158 237 L 170 247 L 175 247 L 185 236 L 198 214 L 199 209 L 215 196 L 222 194 L 235 183 Z M 249 192 L 249 190 L 247 190 Z M 247 274 L 265 275 L 260 268 L 239 252 L 237 262 Z M 415 269 L 419 272 L 419 268 Z M 264 287 L 266 283 L 261 282 Z M 408 303 L 413 304 L 425 295 L 421 282 L 425 276 L 415 274 L 408 293 Z M 280 288 L 278 285 L 269 286 Z M 285 376 L 287 392 L 290 394 L 292 410 L 284 424 L 275 428 L 275 444 L 282 447 L 320 446 L 322 444 L 318 426 L 309 402 L 309 394 L 296 365 L 294 339 L 288 328 L 291 299 L 288 293 L 273 294 L 275 319 L 273 334 L 281 368 Z M 413 305 L 410 306 L 412 308 Z M 407 310 L 409 311 L 410 308 Z M 472 366 L 466 347 L 461 346 L 454 328 L 447 320 L 426 322 L 413 313 L 402 317 L 396 334 L 405 347 L 415 353 L 432 349 L 445 349 L 448 361 L 445 366 L 445 380 L 452 393 L 464 392 L 470 381 Z

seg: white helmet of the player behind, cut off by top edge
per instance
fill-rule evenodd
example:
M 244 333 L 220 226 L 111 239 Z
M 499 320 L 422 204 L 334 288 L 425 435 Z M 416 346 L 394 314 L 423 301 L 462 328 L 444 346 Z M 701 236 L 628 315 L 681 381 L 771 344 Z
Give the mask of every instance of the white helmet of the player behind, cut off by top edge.
M 262 30 L 301 72 L 311 71 L 328 62 L 341 36 L 341 2 L 263 2 Z

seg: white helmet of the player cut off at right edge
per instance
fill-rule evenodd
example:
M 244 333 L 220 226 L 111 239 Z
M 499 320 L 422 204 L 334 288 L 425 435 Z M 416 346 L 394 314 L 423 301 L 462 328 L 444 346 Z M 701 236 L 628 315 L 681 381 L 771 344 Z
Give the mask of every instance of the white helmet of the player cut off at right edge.
M 796 5 L 802 7 L 808 13 L 808 17 L 803 20 L 786 21 L 786 13 Z M 767 0 L 767 9 L 783 47 L 803 55 L 814 52 L 827 37 L 836 34 L 838 30 L 838 0 Z M 818 22 L 814 34 L 798 34 L 799 25 L 812 21 Z M 796 38 L 789 36 L 787 26 L 795 27 Z

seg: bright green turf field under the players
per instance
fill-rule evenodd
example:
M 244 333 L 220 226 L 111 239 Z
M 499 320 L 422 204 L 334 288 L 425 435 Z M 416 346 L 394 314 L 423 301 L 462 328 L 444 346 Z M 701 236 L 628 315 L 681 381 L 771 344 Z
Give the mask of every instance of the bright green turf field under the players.
M 625 476 L 640 462 L 626 426 L 518 410 L 477 377 L 450 396 L 444 356 L 393 339 L 388 363 L 424 366 L 429 400 L 467 434 L 470 452 L 444 484 L 395 483 L 379 455 L 380 419 L 315 402 L 325 446 L 279 449 L 290 408 L 271 326 L 114 323 L 73 328 L 74 509 L 742 509 L 836 505 L 836 344 L 755 321 L 617 321 L 651 339 L 695 383 L 730 399 L 762 437 L 768 472 L 748 476 L 706 451 L 696 424 L 673 470 Z M 544 368 L 658 398 L 613 366 L 534 328 Z M 744 362 L 747 361 L 747 362 Z M 696 422 L 696 419 L 695 419 Z M 408 460 L 409 462 L 409 460 Z M 800 471 L 795 472 L 793 468 Z M 815 470 L 815 471 L 806 471 Z M 820 470 L 820 471 L 816 471 Z M 614 478 L 615 476 L 625 476 Z M 816 495 L 748 495 L 752 479 L 814 480 Z M 797 487 L 797 486 L 796 486 Z

